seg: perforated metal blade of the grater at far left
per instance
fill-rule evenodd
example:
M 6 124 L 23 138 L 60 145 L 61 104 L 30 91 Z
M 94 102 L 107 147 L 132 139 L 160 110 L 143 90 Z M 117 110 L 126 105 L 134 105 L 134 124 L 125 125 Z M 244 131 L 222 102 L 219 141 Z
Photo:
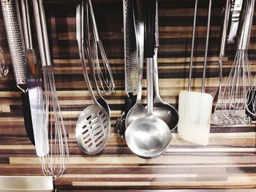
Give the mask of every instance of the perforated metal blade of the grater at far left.
M 12 58 L 12 66 L 18 88 L 26 91 L 27 68 L 25 47 L 20 23 L 20 13 L 17 0 L 1 0 L 4 24 Z

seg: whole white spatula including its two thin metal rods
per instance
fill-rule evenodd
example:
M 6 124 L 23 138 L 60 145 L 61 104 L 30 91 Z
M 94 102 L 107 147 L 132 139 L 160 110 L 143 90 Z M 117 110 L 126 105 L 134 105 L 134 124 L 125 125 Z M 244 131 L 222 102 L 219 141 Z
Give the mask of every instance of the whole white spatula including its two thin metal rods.
M 203 62 L 203 79 L 201 93 L 191 91 L 193 51 L 195 42 L 195 23 L 197 15 L 197 0 L 195 1 L 195 14 L 192 32 L 192 50 L 189 68 L 189 91 L 181 91 L 178 99 L 178 134 L 182 139 L 198 145 L 207 145 L 211 126 L 211 107 L 213 98 L 205 93 L 206 64 L 208 53 L 208 37 L 211 20 L 211 0 L 208 6 L 208 23 L 206 34 L 206 50 Z

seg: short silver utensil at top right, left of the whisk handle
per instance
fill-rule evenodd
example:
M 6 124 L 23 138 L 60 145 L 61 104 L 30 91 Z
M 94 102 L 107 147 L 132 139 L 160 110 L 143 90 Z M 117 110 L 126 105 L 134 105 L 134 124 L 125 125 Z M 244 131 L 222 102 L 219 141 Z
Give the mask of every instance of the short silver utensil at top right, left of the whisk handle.
M 227 35 L 227 43 L 231 44 L 235 42 L 237 33 L 239 20 L 241 15 L 241 9 L 243 5 L 243 0 L 229 0 L 230 1 L 230 22 L 228 24 L 228 35 Z M 227 19 L 228 20 L 228 19 Z

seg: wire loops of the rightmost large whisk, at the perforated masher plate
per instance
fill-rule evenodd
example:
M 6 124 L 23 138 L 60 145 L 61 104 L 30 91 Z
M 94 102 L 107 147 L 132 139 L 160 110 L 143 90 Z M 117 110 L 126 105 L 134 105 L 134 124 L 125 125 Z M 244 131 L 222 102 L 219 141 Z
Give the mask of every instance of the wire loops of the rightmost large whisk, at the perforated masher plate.
M 247 50 L 237 50 L 229 77 L 221 96 L 224 124 L 248 124 L 245 114 L 247 95 L 252 89 L 252 75 Z

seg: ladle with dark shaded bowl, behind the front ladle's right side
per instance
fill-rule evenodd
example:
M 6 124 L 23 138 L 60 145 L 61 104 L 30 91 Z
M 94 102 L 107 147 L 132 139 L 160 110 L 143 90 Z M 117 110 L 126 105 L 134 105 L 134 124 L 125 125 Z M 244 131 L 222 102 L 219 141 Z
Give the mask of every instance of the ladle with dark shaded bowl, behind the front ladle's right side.
M 172 131 L 178 125 L 178 111 L 167 102 L 162 101 L 159 94 L 158 85 L 158 67 L 157 67 L 157 50 L 159 47 L 159 31 L 158 31 L 158 12 L 156 9 L 156 26 L 155 26 L 155 47 L 154 47 L 154 100 L 153 115 L 165 121 Z

